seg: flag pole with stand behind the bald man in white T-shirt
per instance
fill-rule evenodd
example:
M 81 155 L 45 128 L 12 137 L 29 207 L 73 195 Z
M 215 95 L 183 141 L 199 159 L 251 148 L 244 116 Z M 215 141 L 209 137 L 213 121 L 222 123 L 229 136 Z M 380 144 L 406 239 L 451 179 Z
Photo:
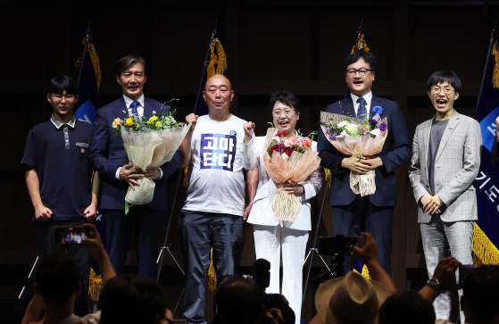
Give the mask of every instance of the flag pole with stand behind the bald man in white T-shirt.
M 210 46 L 212 45 L 212 41 L 213 41 L 213 39 L 215 39 L 216 35 L 217 35 L 217 21 L 215 21 L 215 27 L 213 27 L 212 36 L 210 37 L 210 44 L 208 44 L 208 53 L 206 53 L 206 60 L 205 61 L 210 61 L 210 53 L 211 53 Z M 195 98 L 194 113 L 197 112 L 197 105 L 199 104 L 201 94 L 203 93 L 205 76 L 206 76 L 206 65 L 204 65 L 203 73 L 201 74 L 201 82 L 199 83 L 199 88 L 197 90 L 197 97 Z M 173 210 L 175 207 L 175 203 L 177 201 L 177 194 L 179 193 L 180 182 L 182 180 L 182 171 L 183 170 L 179 171 L 179 178 L 177 179 L 177 186 L 175 187 L 175 194 L 173 195 L 173 201 L 170 204 L 170 218 L 168 220 L 168 226 L 166 227 L 166 234 L 164 236 L 164 241 L 163 241 L 163 244 L 162 244 L 162 247 L 160 250 L 160 254 L 158 256 L 158 260 L 156 261 L 156 263 L 158 265 L 158 276 L 157 276 L 158 281 L 160 280 L 160 274 L 161 274 L 161 270 L 162 270 L 162 261 L 164 258 L 164 251 L 165 250 L 168 253 L 170 253 L 171 258 L 177 264 L 177 266 L 179 267 L 179 270 L 182 272 L 182 274 L 184 274 L 184 276 L 185 276 L 185 273 L 182 270 L 182 268 L 180 267 L 179 262 L 177 262 L 177 260 L 175 260 L 175 258 L 173 257 L 173 254 L 171 254 L 171 252 L 170 252 L 170 248 L 168 246 L 166 246 L 166 242 L 168 240 L 168 235 L 170 233 L 171 219 L 173 218 Z

